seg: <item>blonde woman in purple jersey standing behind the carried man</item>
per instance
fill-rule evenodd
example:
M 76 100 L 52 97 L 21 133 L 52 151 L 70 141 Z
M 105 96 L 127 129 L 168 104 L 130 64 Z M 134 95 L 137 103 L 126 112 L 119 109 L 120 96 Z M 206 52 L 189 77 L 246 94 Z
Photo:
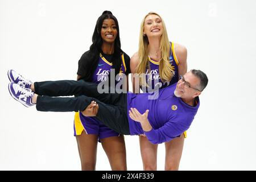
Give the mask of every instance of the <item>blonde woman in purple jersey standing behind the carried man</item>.
M 169 42 L 166 26 L 159 14 L 150 12 L 144 16 L 139 36 L 139 50 L 131 57 L 130 69 L 131 73 L 146 74 L 140 77 L 139 81 L 135 81 L 133 77 L 135 93 L 138 93 L 138 89 L 135 88 L 139 87 L 143 92 L 150 92 L 156 86 L 163 88 L 168 84 L 174 84 L 179 80 L 179 76 L 187 72 L 187 49 L 180 44 Z M 184 133 L 164 143 L 165 170 L 179 169 L 185 135 Z M 139 142 L 143 169 L 156 170 L 158 144 L 152 144 L 143 135 L 139 136 Z

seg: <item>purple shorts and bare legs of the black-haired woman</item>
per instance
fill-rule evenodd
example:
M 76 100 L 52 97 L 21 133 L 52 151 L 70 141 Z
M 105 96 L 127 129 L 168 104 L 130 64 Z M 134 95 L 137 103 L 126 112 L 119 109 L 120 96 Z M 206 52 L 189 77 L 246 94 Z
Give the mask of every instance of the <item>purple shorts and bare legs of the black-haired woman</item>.
M 93 155 L 96 155 L 96 150 L 93 151 L 92 148 L 94 147 L 88 148 L 88 143 L 97 143 L 97 139 L 100 139 L 112 170 L 126 170 L 126 150 L 123 135 L 120 136 L 119 133 L 109 129 L 93 117 L 85 117 L 81 112 L 75 113 L 74 135 L 77 138 L 78 146 L 80 146 L 79 151 L 82 169 L 85 169 L 85 164 L 86 166 L 95 168 L 92 160 L 88 158 L 96 159 L 96 156 L 94 158 Z M 97 138 L 93 139 L 93 136 Z M 82 142 L 82 144 L 80 144 L 79 141 L 80 143 Z M 93 161 L 96 163 L 96 160 Z M 86 169 L 88 169 L 88 167 Z

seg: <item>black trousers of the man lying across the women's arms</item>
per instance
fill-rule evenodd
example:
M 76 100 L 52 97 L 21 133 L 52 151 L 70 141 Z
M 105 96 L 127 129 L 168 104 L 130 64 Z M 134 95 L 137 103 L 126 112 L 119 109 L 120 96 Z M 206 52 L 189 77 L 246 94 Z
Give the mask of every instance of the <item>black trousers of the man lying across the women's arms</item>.
M 99 109 L 96 118 L 118 133 L 129 135 L 126 93 L 98 93 L 98 85 L 84 80 L 61 80 L 35 82 L 38 94 L 36 109 L 39 111 L 82 111 L 92 101 Z M 76 97 L 58 97 L 73 96 Z

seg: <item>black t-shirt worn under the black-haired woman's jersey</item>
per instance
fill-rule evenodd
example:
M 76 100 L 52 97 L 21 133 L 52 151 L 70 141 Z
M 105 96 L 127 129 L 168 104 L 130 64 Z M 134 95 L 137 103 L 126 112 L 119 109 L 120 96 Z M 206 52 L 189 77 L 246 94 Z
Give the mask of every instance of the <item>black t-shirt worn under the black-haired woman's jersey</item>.
M 86 67 L 86 61 L 88 61 L 88 54 L 89 54 L 89 51 L 86 51 L 85 53 L 82 54 L 80 60 L 79 60 L 79 67 L 77 69 L 77 75 L 84 75 L 83 73 L 85 72 L 85 67 Z M 112 63 L 112 58 L 113 58 L 113 55 L 106 55 L 104 53 L 102 53 L 102 56 L 105 57 L 106 60 L 108 60 L 110 63 Z M 100 55 L 99 55 L 100 57 Z M 125 72 L 125 75 L 129 75 L 129 73 L 131 73 L 131 70 L 130 70 L 130 57 L 125 53 L 123 52 L 123 57 L 125 58 L 125 64 L 126 64 L 126 72 Z M 121 61 L 121 56 L 120 56 L 120 61 Z M 94 72 L 94 70 L 92 70 L 92 72 Z M 81 78 L 83 79 L 83 78 Z

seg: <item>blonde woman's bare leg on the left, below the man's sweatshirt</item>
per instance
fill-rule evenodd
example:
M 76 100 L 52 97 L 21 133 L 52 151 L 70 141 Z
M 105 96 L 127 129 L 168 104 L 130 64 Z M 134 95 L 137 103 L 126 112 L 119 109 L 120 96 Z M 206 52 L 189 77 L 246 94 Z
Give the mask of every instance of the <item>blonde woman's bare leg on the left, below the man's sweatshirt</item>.
M 158 144 L 152 144 L 147 137 L 139 136 L 144 171 L 156 171 Z

